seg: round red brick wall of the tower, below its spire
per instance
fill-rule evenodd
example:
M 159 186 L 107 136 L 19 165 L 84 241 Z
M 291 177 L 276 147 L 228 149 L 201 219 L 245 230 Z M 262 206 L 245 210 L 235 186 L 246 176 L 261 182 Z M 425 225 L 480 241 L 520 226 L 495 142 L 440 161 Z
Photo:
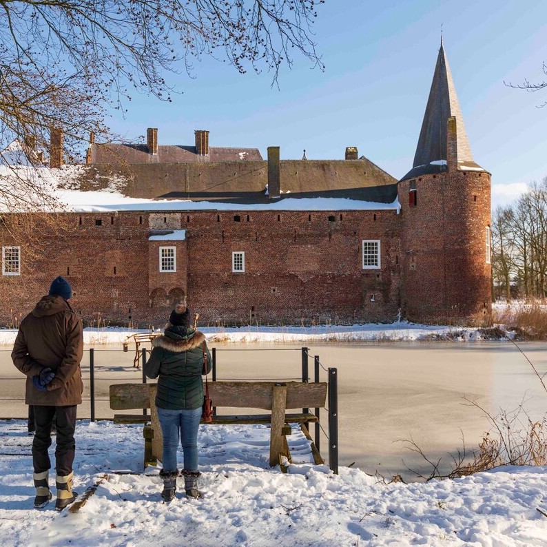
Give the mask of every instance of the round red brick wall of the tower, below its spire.
M 409 207 L 411 183 L 417 207 Z M 490 319 L 490 192 L 488 173 L 456 169 L 399 183 L 402 310 L 409 320 Z

